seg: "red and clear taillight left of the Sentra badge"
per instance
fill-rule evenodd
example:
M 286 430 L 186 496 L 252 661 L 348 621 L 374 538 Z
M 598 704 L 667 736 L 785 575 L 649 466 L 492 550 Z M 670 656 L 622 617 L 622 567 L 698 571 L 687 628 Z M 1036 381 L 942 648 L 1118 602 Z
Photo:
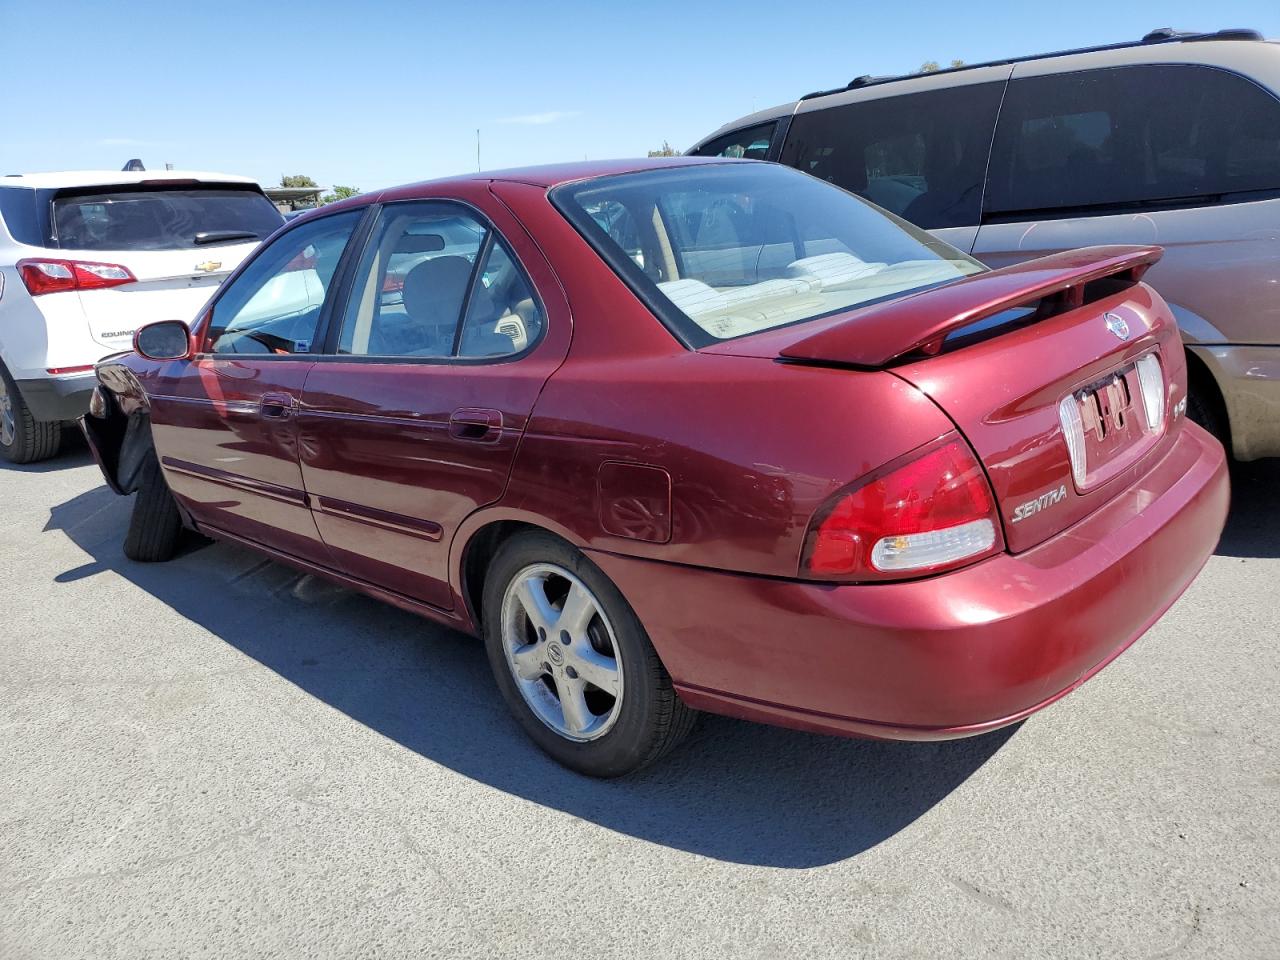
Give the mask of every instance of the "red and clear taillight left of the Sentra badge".
M 970 563 L 1001 545 L 987 476 L 951 434 L 832 497 L 809 526 L 801 567 L 814 577 L 891 580 Z

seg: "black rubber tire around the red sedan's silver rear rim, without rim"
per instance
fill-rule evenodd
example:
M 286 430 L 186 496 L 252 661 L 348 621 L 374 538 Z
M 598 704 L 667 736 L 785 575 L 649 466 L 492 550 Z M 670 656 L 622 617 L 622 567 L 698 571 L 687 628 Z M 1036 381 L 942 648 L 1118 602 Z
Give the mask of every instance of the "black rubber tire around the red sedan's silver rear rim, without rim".
M 541 563 L 570 571 L 582 581 L 613 626 L 613 655 L 623 673 L 622 696 L 613 726 L 595 740 L 575 741 L 544 723 L 520 692 L 507 662 L 503 599 L 522 571 Z M 559 538 L 521 534 L 499 548 L 485 575 L 481 621 L 489 666 L 503 699 L 525 733 L 570 769 L 590 777 L 621 777 L 660 759 L 692 730 L 698 713 L 676 695 L 671 675 L 635 612 L 599 567 Z

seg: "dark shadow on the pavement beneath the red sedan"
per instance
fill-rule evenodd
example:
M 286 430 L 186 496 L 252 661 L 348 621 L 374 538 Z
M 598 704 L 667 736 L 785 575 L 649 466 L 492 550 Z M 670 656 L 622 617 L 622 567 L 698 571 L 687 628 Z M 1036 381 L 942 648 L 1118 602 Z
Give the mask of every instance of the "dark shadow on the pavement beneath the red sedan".
M 131 562 L 120 552 L 129 506 L 100 486 L 51 511 L 46 530 L 64 531 L 90 557 L 59 582 L 115 571 L 218 641 L 435 763 L 704 856 L 806 868 L 856 855 L 925 814 L 1016 730 L 895 744 L 704 717 L 653 769 L 593 781 L 525 739 L 476 640 L 236 545 L 193 545 L 163 564 Z

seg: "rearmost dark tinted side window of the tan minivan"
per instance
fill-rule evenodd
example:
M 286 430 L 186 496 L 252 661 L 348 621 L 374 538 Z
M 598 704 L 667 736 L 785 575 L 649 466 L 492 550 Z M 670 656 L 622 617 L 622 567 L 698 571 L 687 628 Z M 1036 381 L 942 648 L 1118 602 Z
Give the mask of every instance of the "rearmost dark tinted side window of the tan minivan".
M 1009 84 L 986 210 L 1014 219 L 1275 189 L 1275 96 L 1208 67 L 1116 67 Z

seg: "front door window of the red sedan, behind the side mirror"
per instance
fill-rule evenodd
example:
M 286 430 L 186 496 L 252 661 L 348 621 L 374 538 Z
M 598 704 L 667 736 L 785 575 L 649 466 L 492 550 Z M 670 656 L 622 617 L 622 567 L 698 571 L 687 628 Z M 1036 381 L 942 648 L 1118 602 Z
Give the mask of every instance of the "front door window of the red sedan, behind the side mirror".
M 291 355 L 316 351 L 316 330 L 342 252 L 364 210 L 323 216 L 262 250 L 214 303 L 214 353 Z

